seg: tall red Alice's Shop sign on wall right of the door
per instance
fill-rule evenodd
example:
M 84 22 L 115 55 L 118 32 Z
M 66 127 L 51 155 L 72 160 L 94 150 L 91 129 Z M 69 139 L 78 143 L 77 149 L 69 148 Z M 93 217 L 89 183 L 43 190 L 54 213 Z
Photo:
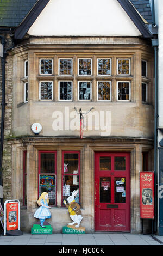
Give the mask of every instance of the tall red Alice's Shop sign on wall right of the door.
M 154 219 L 154 172 L 140 173 L 140 218 Z

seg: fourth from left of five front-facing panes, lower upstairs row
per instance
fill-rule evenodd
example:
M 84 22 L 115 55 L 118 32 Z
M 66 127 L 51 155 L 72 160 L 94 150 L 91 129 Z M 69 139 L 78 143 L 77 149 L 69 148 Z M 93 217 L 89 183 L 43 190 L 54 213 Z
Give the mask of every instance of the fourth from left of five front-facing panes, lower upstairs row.
M 110 82 L 98 82 L 98 100 L 111 100 Z

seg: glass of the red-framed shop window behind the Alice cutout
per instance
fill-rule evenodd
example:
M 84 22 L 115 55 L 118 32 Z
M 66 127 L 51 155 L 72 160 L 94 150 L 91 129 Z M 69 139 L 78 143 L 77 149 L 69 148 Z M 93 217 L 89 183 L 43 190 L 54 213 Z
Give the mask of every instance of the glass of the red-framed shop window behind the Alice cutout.
M 55 151 L 39 151 L 39 196 L 48 193 L 49 205 L 56 205 L 57 155 Z

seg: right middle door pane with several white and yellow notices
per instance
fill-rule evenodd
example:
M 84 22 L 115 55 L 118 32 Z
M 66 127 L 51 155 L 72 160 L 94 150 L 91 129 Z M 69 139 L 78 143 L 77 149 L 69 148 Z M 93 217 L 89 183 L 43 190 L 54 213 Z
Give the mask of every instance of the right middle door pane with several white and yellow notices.
M 114 202 L 126 203 L 126 178 L 114 178 Z

